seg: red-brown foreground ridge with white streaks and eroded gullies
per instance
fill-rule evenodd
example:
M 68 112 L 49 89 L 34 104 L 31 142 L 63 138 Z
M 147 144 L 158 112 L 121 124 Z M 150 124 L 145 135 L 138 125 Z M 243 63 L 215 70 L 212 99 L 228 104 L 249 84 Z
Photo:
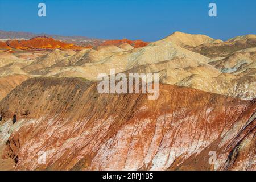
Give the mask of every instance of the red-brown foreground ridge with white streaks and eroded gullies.
M 174 85 L 159 85 L 158 100 L 148 100 L 98 94 L 97 82 L 80 78 L 32 78 L 0 102 L 2 164 L 255 170 L 255 101 Z M 217 154 L 214 164 L 209 151 Z

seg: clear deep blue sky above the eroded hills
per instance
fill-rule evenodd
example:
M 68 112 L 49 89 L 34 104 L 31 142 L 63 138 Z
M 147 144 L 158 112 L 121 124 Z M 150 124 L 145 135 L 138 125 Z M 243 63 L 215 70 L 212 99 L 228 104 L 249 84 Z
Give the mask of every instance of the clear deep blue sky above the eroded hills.
M 210 2 L 216 18 L 208 16 Z M 0 30 L 147 41 L 181 31 L 225 40 L 256 34 L 255 7 L 255 0 L 0 0 Z

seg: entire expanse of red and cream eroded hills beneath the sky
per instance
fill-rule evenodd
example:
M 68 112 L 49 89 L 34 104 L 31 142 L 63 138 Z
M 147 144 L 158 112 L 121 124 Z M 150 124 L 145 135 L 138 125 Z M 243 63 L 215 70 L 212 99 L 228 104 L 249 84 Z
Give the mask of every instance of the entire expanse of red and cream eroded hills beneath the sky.
M 0 169 L 256 169 L 256 35 L 92 42 L 0 41 Z M 158 73 L 159 98 L 98 93 L 110 69 Z

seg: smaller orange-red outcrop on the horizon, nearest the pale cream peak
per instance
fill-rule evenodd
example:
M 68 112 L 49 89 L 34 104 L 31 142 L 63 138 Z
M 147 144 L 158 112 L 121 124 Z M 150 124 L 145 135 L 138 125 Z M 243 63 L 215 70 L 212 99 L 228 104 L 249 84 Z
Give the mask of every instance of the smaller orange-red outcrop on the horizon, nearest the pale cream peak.
M 100 46 L 108 46 L 108 45 L 120 46 L 123 43 L 130 44 L 134 48 L 144 47 L 144 46 L 147 46 L 148 44 L 147 42 L 144 42 L 142 40 L 121 39 L 121 40 L 106 40 Z

